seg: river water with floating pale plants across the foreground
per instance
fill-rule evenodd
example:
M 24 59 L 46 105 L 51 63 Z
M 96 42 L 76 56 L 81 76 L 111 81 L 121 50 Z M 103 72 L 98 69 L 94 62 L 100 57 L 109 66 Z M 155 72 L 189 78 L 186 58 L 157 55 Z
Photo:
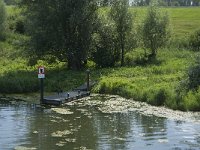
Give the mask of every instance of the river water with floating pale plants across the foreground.
M 198 113 L 92 96 L 59 108 L 0 103 L 0 150 L 198 150 Z

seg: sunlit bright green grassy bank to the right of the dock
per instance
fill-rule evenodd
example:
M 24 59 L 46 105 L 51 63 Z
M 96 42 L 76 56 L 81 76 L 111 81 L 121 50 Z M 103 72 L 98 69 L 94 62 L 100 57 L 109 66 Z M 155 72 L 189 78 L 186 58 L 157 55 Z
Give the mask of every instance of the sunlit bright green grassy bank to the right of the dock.
M 153 64 L 110 69 L 100 78 L 94 91 L 117 94 L 156 106 L 191 110 L 186 104 L 190 99 L 180 99 L 176 91 L 186 79 L 186 70 L 194 63 L 196 55 L 187 50 L 162 49 Z

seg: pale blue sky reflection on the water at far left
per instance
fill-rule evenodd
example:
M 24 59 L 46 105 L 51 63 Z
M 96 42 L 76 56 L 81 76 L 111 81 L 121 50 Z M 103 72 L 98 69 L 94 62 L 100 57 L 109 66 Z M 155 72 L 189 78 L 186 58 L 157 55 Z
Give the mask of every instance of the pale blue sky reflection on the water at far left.
M 5 104 L 0 107 L 0 149 L 12 149 L 16 143 L 26 140 L 26 113 L 26 109 L 19 107 Z

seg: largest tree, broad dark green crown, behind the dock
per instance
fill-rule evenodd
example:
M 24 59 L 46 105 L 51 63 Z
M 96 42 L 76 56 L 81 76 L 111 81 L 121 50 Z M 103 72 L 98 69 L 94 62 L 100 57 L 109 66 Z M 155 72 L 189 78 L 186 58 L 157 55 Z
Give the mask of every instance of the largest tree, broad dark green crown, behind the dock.
M 67 60 L 81 69 L 88 59 L 96 19 L 95 0 L 22 0 L 31 35 L 32 50 Z

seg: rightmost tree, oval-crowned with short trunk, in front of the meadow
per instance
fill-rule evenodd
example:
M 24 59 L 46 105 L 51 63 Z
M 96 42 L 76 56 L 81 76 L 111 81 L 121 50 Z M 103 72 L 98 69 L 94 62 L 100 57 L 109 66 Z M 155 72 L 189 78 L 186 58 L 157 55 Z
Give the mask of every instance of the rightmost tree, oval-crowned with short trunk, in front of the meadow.
M 169 19 L 157 7 L 153 1 L 148 8 L 147 16 L 143 24 L 143 43 L 145 48 L 151 50 L 149 58 L 156 58 L 157 50 L 169 39 Z

